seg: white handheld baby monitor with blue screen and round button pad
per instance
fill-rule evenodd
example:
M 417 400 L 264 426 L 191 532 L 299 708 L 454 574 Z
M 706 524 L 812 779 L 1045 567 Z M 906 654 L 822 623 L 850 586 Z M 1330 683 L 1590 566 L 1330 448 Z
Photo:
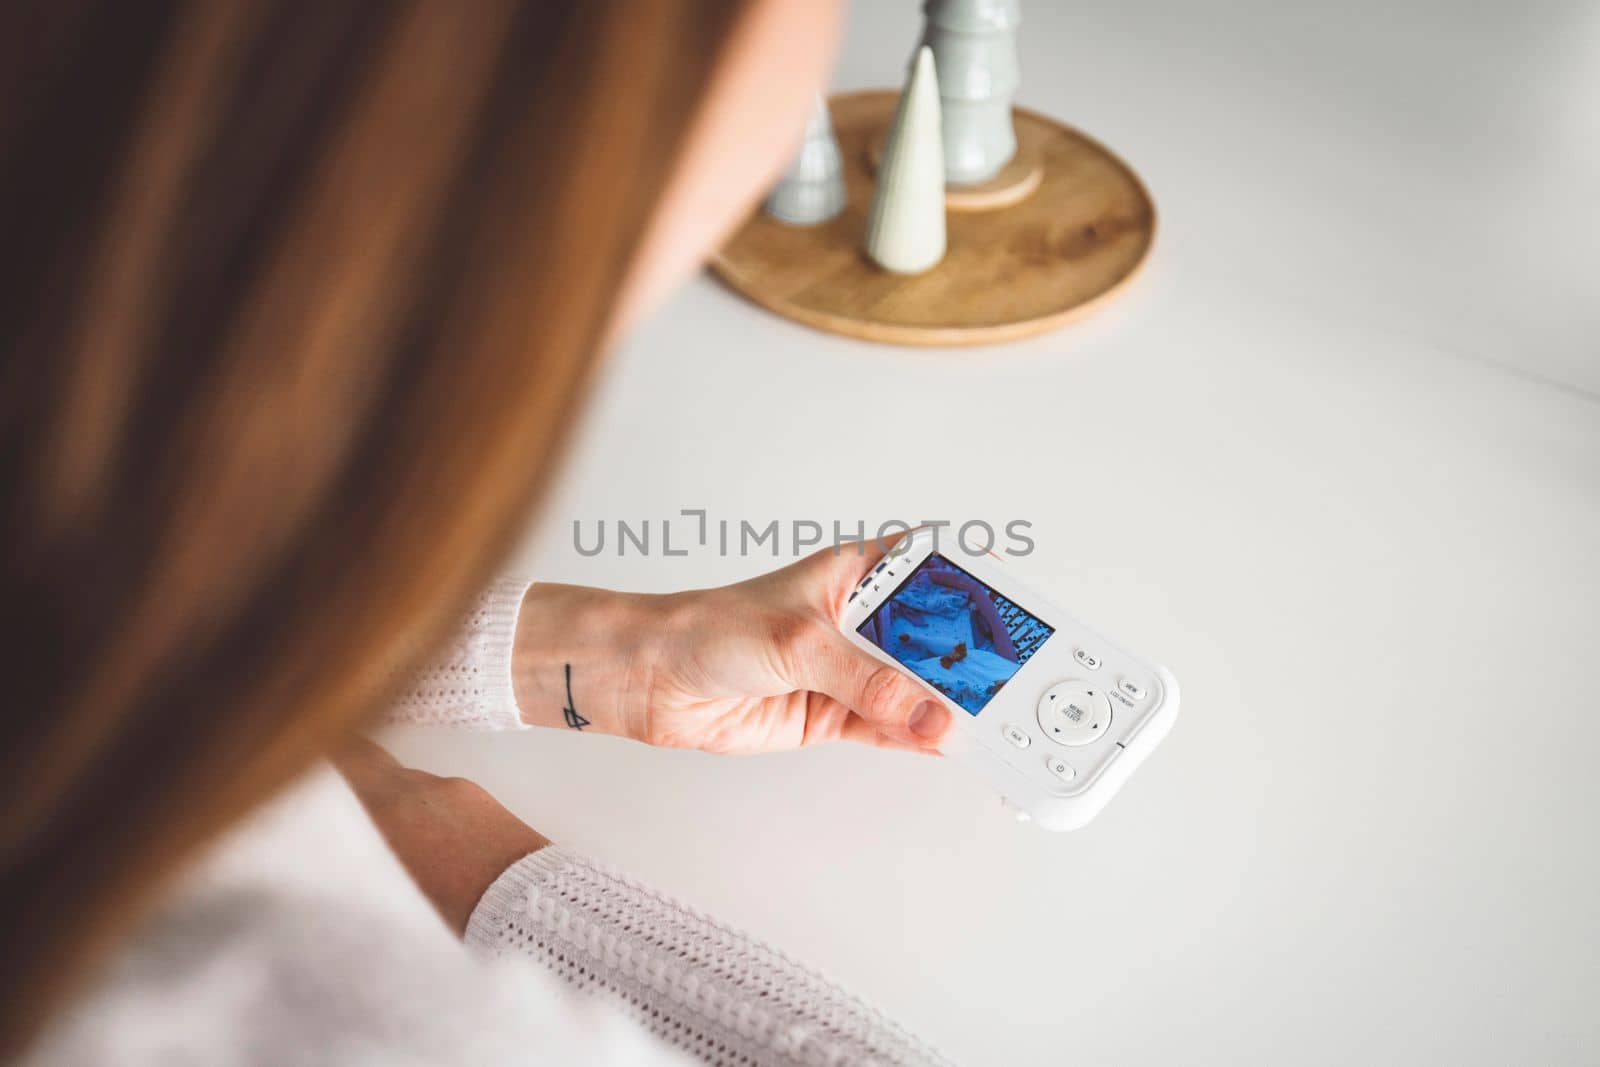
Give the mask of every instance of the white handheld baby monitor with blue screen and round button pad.
M 1075 830 L 1173 728 L 1178 681 L 936 533 L 904 537 L 840 629 L 949 705 L 947 755 L 1038 825 Z

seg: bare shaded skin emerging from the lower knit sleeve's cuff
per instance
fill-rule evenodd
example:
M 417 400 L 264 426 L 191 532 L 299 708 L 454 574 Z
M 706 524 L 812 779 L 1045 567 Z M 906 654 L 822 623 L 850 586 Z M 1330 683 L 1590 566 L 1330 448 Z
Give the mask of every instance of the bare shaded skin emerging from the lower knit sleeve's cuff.
M 456 934 L 507 867 L 550 843 L 482 785 L 400 766 L 371 741 L 350 742 L 333 763 Z

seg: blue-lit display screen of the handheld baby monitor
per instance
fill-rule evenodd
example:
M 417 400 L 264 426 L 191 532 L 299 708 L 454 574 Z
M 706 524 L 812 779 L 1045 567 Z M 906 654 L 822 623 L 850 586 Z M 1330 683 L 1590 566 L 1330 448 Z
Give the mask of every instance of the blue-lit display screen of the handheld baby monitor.
M 934 553 L 856 632 L 976 715 L 1056 630 Z

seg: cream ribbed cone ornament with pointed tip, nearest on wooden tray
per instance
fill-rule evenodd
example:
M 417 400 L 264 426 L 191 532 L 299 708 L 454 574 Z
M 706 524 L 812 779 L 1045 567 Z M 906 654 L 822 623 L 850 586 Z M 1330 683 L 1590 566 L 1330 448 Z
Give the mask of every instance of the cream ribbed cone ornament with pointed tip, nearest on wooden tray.
M 922 48 L 883 144 L 864 248 L 896 274 L 922 274 L 944 259 L 944 138 L 933 51 Z

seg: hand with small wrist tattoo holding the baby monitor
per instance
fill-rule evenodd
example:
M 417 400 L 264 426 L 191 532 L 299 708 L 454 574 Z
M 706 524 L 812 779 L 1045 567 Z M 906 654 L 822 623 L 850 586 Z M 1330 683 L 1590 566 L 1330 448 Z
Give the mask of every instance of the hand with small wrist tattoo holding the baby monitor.
M 666 597 L 534 585 L 514 681 L 530 723 L 707 752 L 824 741 L 933 750 L 950 712 L 838 632 L 874 547 L 824 549 L 738 585 Z

